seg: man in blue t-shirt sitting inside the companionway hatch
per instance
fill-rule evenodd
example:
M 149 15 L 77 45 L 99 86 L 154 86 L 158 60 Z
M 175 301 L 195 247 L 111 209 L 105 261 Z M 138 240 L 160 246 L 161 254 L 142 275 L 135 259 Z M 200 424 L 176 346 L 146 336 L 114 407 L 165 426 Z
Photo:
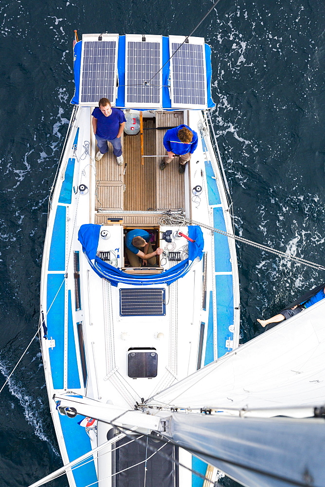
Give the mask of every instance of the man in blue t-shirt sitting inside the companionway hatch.
M 163 249 L 158 247 L 153 251 L 150 244 L 151 235 L 141 228 L 127 232 L 125 237 L 125 250 L 131 267 L 139 267 L 140 259 L 143 265 L 156 265 L 156 255 L 162 254 Z

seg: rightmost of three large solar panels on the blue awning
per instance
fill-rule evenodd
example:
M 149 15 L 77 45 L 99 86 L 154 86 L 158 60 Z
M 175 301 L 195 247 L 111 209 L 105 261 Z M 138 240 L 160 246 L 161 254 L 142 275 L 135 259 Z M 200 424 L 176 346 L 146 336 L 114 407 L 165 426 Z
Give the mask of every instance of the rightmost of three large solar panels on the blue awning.
M 181 43 L 172 42 L 171 55 Z M 206 105 L 204 46 L 201 44 L 181 45 L 172 57 L 173 105 Z

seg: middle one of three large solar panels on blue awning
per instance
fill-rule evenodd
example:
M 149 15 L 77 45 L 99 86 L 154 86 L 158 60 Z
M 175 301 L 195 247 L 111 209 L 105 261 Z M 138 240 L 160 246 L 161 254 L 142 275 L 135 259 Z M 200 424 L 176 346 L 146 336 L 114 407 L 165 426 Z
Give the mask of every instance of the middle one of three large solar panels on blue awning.
M 160 74 L 147 86 L 144 82 L 149 82 L 161 68 L 160 42 L 129 41 L 126 55 L 126 103 L 159 105 Z

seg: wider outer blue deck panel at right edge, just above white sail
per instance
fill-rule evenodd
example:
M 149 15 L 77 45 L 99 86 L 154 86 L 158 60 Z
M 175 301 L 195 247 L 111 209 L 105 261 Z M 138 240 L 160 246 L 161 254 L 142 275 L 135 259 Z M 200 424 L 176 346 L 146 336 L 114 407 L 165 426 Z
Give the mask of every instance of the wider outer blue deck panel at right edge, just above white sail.
M 216 276 L 217 295 L 217 353 L 218 358 L 232 349 L 226 348 L 226 340 L 233 339 L 229 326 L 234 324 L 233 276 Z

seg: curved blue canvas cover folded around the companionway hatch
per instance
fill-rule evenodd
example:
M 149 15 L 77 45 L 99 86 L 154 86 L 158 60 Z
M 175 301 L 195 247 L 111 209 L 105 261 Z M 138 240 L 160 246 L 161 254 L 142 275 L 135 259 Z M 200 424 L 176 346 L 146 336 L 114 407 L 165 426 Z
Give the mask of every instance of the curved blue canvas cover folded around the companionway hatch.
M 113 286 L 119 282 L 130 285 L 148 285 L 148 284 L 171 284 L 177 279 L 185 276 L 189 271 L 194 260 L 201 260 L 203 254 L 203 233 L 198 225 L 188 226 L 188 236 L 195 240 L 194 243 L 188 242 L 188 259 L 174 265 L 161 274 L 149 276 L 137 276 L 127 274 L 121 269 L 117 269 L 107 262 L 102 261 L 97 255 L 97 246 L 99 240 L 101 225 L 86 224 L 81 225 L 78 232 L 78 240 L 82 249 L 88 258 L 90 266 L 100 277 L 107 279 Z

